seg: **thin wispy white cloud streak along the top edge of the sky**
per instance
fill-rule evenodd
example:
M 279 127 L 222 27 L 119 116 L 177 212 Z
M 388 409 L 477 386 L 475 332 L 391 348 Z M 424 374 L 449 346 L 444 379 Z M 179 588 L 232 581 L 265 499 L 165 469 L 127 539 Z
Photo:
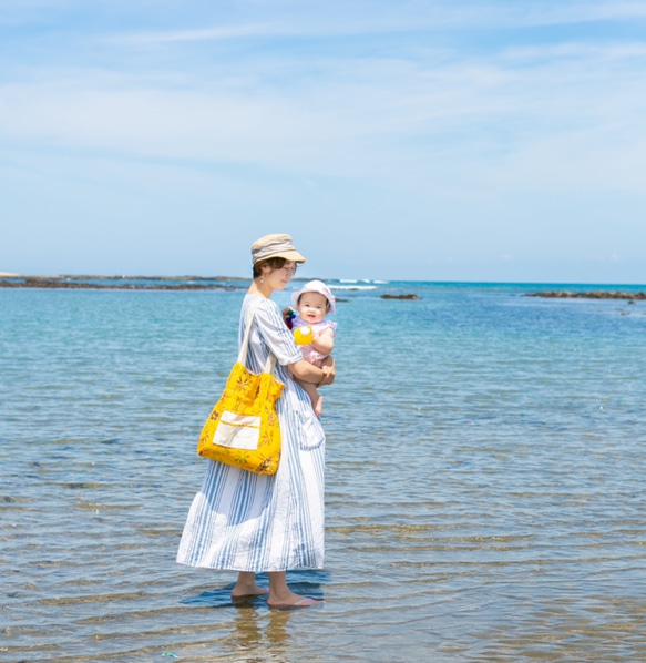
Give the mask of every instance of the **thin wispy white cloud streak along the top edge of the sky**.
M 199 3 L 197 3 L 199 6 Z M 113 35 L 110 39 L 122 43 L 171 43 L 193 41 L 219 41 L 228 39 L 321 39 L 342 35 L 379 35 L 423 33 L 443 30 L 525 29 L 573 23 L 626 21 L 646 18 L 643 2 L 609 2 L 607 0 L 552 0 L 541 3 L 516 0 L 509 1 L 460 1 L 402 0 L 393 4 L 390 0 L 363 0 L 351 4 L 341 0 L 325 3 L 287 1 L 265 6 L 257 2 L 242 2 L 239 11 L 221 12 L 217 24 L 208 28 L 177 30 L 136 31 Z M 249 9 L 253 8 L 253 12 Z M 194 16 L 188 7 L 185 18 Z M 265 19 L 249 23 L 249 13 Z M 202 21 L 199 21 L 202 22 Z M 176 21 L 174 21 L 176 23 Z

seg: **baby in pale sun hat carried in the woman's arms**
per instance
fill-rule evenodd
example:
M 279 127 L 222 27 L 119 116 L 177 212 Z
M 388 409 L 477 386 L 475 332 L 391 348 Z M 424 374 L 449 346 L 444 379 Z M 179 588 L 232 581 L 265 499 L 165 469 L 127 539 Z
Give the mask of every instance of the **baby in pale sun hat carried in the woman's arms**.
M 319 368 L 326 361 L 335 346 L 337 323 L 326 320 L 328 313 L 335 313 L 335 296 L 322 280 L 310 280 L 291 295 L 291 304 L 296 312 L 286 309 L 287 325 L 294 330 L 311 329 L 311 343 L 300 346 L 303 358 Z M 291 312 L 291 315 L 287 312 Z M 296 314 L 296 315 L 295 315 Z M 309 396 L 317 417 L 322 411 L 322 396 L 311 382 L 298 382 Z

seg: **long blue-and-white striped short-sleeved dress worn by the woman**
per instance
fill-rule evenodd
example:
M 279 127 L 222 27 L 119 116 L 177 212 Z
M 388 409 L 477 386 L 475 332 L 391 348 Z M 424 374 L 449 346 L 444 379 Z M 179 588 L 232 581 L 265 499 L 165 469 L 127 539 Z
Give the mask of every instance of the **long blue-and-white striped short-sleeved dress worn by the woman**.
M 256 313 L 247 368 L 260 373 L 271 350 L 277 377 L 285 384 L 277 401 L 280 465 L 275 475 L 265 476 L 207 460 L 177 562 L 256 572 L 321 569 L 325 434 L 309 397 L 285 368 L 301 354 L 274 302 L 258 295 L 245 297 L 239 340 L 252 303 Z

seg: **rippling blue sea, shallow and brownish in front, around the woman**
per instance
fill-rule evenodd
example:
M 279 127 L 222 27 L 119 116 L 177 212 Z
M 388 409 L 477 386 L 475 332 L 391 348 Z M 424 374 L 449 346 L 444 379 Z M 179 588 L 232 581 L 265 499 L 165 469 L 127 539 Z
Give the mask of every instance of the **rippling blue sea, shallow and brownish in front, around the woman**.
M 646 302 L 331 282 L 326 603 L 277 611 L 175 563 L 239 285 L 0 290 L 1 663 L 646 661 Z

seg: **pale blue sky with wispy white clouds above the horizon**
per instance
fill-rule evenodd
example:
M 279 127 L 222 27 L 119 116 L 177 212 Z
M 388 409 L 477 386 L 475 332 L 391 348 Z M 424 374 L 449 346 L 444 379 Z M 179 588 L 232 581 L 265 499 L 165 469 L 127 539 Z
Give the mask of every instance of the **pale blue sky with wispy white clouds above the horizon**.
M 0 272 L 646 284 L 646 2 L 0 0 Z

